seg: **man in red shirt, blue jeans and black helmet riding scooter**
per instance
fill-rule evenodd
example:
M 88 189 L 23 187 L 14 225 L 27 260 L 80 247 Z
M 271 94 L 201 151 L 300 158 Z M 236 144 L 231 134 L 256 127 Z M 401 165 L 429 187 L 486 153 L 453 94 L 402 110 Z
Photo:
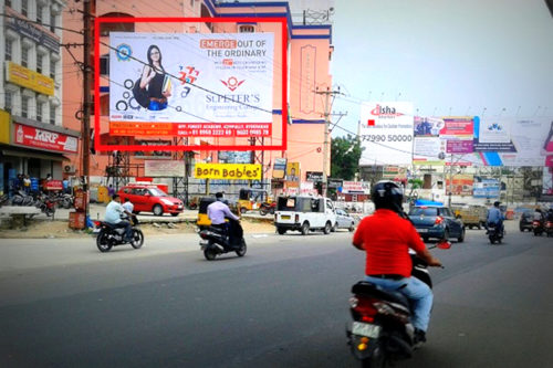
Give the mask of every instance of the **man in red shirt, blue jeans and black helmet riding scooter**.
M 409 248 L 430 266 L 441 263 L 428 252 L 410 221 L 400 215 L 403 192 L 395 182 L 377 182 L 371 196 L 376 211 L 361 221 L 353 236 L 353 245 L 367 254 L 365 280 L 409 298 L 416 343 L 426 341 L 434 296 L 427 284 L 411 277 Z

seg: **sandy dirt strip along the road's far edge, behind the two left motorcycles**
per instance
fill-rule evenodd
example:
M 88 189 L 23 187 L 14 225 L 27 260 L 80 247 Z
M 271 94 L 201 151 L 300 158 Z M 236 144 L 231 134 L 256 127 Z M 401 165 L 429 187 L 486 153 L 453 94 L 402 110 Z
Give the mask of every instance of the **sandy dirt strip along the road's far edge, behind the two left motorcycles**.
M 241 221 L 244 233 L 273 233 L 272 222 L 243 219 Z M 145 235 L 175 235 L 196 232 L 192 222 L 156 222 L 142 223 L 140 229 Z M 32 221 L 28 227 L 9 229 L 6 224 L 0 228 L 0 239 L 55 239 L 55 238 L 81 238 L 90 236 L 84 230 L 70 229 L 65 221 Z

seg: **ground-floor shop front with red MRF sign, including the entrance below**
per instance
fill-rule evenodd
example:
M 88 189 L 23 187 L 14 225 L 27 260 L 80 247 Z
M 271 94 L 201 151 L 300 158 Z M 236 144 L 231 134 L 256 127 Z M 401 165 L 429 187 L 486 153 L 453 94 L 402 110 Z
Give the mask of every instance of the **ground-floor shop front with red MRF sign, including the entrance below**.
M 80 133 L 12 116 L 0 135 L 0 191 L 39 190 L 42 180 L 63 180 L 71 156 L 79 153 Z M 24 178 L 31 188 L 24 187 Z

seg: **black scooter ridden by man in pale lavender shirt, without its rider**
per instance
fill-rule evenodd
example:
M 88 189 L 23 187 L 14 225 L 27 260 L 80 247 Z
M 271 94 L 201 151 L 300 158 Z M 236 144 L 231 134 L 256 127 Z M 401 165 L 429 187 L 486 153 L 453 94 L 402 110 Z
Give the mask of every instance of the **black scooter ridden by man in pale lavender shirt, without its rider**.
M 238 256 L 244 256 L 247 251 L 246 240 L 243 239 L 243 229 L 240 222 L 229 220 L 233 232 L 234 243 L 231 244 L 229 234 L 220 228 L 208 227 L 199 232 L 201 238 L 200 248 L 204 251 L 204 256 L 208 261 L 215 260 L 217 255 L 236 252 Z

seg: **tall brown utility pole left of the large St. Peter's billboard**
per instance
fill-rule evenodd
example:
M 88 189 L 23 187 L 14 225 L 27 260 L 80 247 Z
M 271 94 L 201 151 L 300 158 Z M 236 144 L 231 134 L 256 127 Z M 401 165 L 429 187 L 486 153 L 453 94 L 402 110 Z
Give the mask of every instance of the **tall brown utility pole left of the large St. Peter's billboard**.
M 90 217 L 88 206 L 88 190 L 90 190 L 90 175 L 91 175 L 91 90 L 92 90 L 92 75 L 93 67 L 91 65 L 92 55 L 92 11 L 95 9 L 93 4 L 95 0 L 83 1 L 83 23 L 84 23 L 84 52 L 83 52 L 83 191 L 86 194 L 85 200 L 85 215 Z

